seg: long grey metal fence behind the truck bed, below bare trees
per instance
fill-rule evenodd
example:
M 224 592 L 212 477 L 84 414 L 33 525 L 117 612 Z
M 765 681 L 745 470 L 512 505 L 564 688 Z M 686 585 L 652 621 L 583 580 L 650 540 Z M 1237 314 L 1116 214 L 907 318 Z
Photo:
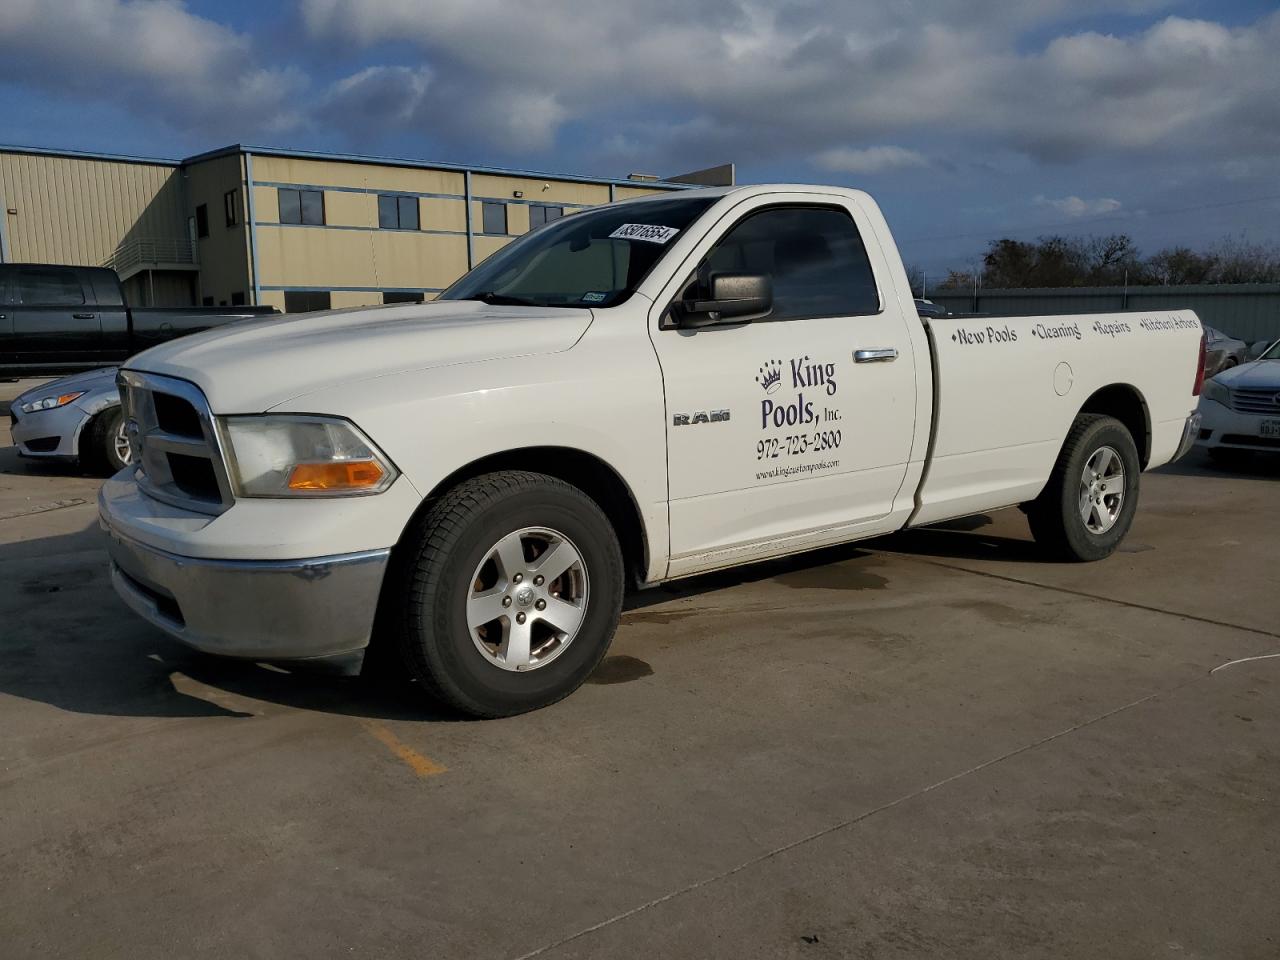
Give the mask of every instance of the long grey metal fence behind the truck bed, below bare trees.
M 954 312 L 993 316 L 1194 310 L 1206 325 L 1247 343 L 1280 338 L 1280 283 L 979 289 L 977 302 L 973 291 L 948 289 L 931 291 L 929 300 Z

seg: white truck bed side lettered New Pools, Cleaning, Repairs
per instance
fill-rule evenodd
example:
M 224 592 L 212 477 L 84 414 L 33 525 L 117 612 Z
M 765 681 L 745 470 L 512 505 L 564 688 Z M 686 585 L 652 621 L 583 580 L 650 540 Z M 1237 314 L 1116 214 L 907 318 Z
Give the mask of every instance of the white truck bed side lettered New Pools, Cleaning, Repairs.
M 1196 407 L 1202 328 L 1189 310 L 922 323 L 933 364 L 933 429 L 911 526 L 1033 499 L 1071 421 L 1101 389 L 1132 399 L 1130 430 L 1144 467 L 1174 456 Z M 1135 353 L 1144 362 L 1135 364 Z M 1155 421 L 1152 410 L 1162 411 Z

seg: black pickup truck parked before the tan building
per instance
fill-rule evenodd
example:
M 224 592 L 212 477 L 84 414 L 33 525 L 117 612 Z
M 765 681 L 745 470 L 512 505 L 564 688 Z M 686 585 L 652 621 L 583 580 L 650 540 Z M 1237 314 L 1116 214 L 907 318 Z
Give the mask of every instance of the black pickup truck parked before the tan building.
M 156 343 L 274 307 L 131 307 L 100 266 L 0 264 L 0 375 L 110 366 Z

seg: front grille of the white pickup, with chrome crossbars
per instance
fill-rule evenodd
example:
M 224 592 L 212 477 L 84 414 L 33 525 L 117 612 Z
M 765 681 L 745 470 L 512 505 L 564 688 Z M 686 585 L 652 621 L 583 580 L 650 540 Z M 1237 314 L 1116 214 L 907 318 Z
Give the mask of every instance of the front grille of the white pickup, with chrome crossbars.
M 120 388 L 138 486 L 164 503 L 221 513 L 232 489 L 214 416 L 195 384 L 122 370 Z

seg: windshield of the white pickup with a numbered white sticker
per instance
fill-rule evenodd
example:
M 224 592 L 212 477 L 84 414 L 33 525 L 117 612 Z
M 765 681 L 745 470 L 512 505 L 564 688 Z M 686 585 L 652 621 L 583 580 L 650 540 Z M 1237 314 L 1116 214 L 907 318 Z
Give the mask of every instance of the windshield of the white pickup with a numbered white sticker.
M 508 243 L 439 298 L 614 306 L 635 292 L 676 237 L 717 200 L 676 196 L 567 215 Z

